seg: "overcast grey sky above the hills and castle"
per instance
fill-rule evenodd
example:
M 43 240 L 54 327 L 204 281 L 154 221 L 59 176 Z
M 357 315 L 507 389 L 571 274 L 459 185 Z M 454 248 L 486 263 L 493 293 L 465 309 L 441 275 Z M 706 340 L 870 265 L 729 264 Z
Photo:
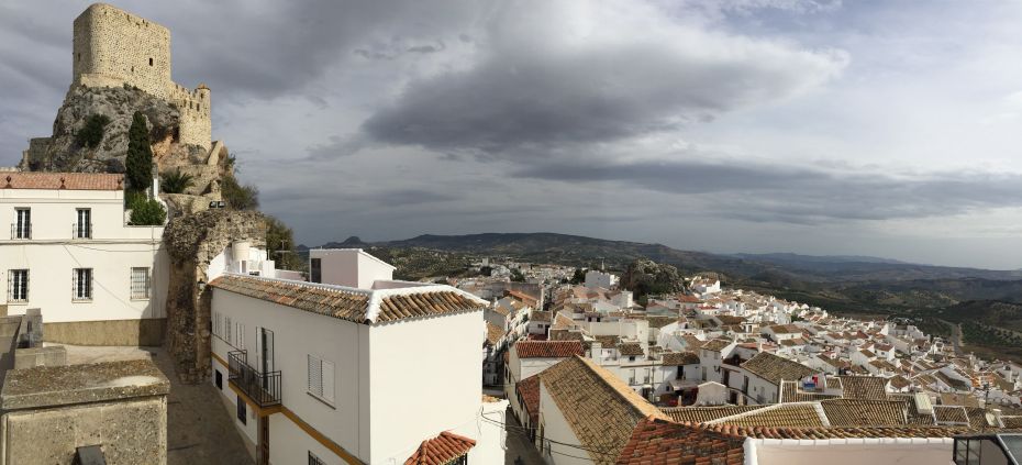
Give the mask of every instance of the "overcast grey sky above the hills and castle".
M 86 2 L 0 4 L 0 164 Z M 551 231 L 1022 268 L 1022 3 L 122 1 L 310 245 Z

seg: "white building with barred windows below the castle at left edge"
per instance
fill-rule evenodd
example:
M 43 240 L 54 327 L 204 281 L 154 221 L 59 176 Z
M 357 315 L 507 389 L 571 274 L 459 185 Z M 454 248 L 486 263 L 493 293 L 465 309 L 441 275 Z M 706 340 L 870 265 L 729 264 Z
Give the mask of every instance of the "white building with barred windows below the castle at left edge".
M 10 226 L 0 233 L 0 273 L 10 314 L 40 308 L 47 325 L 162 322 L 164 228 L 126 224 L 122 184 L 113 174 L 0 173 L 0 224 Z

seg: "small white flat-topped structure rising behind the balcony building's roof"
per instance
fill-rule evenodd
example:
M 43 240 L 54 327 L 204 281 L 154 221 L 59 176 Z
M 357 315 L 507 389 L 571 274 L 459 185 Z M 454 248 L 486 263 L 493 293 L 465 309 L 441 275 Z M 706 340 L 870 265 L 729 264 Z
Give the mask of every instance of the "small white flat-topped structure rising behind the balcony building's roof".
M 316 273 L 319 264 L 320 274 Z M 313 248 L 309 251 L 312 283 L 369 289 L 373 283 L 393 279 L 396 268 L 362 248 Z

